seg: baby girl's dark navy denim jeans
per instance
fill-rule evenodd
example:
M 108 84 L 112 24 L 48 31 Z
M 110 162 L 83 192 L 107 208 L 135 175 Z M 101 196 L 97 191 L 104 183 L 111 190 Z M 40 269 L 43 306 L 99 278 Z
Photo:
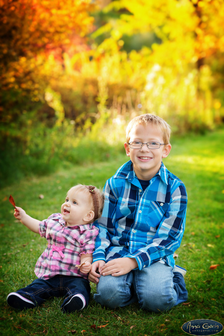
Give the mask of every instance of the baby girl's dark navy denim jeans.
M 61 305 L 68 302 L 75 294 L 82 294 L 87 307 L 90 296 L 89 281 L 81 277 L 56 275 L 50 279 L 35 279 L 29 286 L 21 288 L 16 293 L 32 300 L 35 307 L 51 297 L 65 297 Z

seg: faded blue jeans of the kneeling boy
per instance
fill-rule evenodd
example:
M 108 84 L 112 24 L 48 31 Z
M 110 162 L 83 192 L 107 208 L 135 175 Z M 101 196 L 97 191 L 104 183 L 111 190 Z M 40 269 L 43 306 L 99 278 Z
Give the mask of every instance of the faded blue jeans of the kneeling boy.
M 96 289 L 94 300 L 111 309 L 138 301 L 140 308 L 158 313 L 187 300 L 182 274 L 160 262 L 118 277 L 101 276 Z

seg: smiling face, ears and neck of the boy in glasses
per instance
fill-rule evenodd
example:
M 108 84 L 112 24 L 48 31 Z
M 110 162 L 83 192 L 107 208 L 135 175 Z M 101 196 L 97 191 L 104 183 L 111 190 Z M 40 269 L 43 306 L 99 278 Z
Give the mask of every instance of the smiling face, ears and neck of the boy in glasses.
M 136 125 L 130 132 L 131 141 L 140 141 L 143 143 L 142 148 L 130 148 L 130 145 L 125 142 L 125 150 L 127 156 L 130 157 L 136 176 L 142 180 L 150 180 L 161 167 L 162 158 L 166 158 L 171 150 L 171 145 L 161 145 L 158 149 L 149 149 L 147 142 L 155 141 L 164 143 L 162 131 L 160 128 L 155 128 L 151 124 L 147 126 Z

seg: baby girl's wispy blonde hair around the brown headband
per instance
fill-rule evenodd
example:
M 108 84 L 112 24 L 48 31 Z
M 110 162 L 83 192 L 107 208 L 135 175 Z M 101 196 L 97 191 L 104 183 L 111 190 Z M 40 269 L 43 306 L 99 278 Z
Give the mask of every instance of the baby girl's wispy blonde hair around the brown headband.
M 88 198 L 89 200 L 89 206 L 90 206 L 90 209 L 92 211 L 94 211 L 94 206 L 93 206 L 93 199 L 92 199 L 92 196 L 91 196 L 91 193 L 89 191 L 89 188 L 87 185 L 84 185 L 84 184 L 77 184 L 73 187 L 70 188 L 69 191 L 72 191 L 72 192 L 82 192 L 82 193 L 85 193 L 86 194 L 86 197 Z M 68 191 L 68 192 L 69 192 Z M 95 187 L 94 188 L 94 191 L 98 197 L 98 202 L 99 202 L 99 210 L 98 210 L 98 213 L 95 214 L 94 212 L 94 220 L 98 219 L 99 217 L 101 217 L 102 215 L 102 211 L 103 211 L 103 203 L 104 203 L 104 194 L 97 188 Z M 68 193 L 67 193 L 68 194 Z

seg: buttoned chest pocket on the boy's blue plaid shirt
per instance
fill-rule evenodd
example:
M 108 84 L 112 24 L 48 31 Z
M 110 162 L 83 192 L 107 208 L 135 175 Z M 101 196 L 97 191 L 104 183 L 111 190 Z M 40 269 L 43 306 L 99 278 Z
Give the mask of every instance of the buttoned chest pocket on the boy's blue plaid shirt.
M 146 220 L 148 226 L 158 226 L 168 208 L 169 203 L 164 203 L 161 201 L 150 201 Z

